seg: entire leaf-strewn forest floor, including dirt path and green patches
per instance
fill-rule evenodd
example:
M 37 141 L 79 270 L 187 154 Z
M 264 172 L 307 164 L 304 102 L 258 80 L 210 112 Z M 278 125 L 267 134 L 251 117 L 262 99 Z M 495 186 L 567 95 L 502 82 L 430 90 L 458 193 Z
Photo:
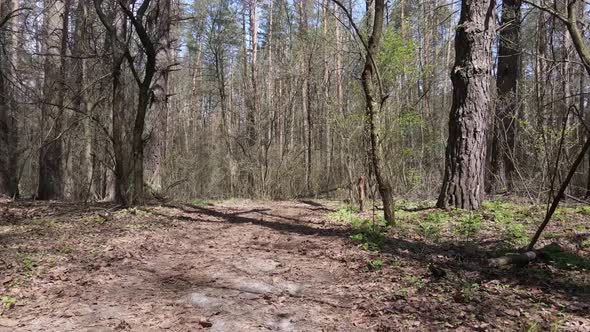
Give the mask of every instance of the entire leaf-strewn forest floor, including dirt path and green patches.
M 0 202 L 0 331 L 590 331 L 590 207 Z

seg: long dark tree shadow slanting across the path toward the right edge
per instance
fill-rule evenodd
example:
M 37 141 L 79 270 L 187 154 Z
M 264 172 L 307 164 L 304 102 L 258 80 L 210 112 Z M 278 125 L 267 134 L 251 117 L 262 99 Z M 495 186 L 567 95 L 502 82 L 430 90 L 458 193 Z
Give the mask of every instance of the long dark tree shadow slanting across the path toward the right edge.
M 174 206 L 186 213 L 203 213 L 219 218 L 220 220 L 233 224 L 253 224 L 270 228 L 284 233 L 295 233 L 299 235 L 313 235 L 323 237 L 349 238 L 356 233 L 355 230 L 345 226 L 311 224 L 296 218 L 283 217 L 271 214 L 273 220 L 264 220 L 251 214 L 266 213 L 267 209 L 252 209 L 227 213 L 214 208 L 204 208 L 192 205 Z M 248 216 L 245 216 L 248 215 Z M 502 250 L 505 250 L 502 249 Z M 407 240 L 399 237 L 387 236 L 379 252 L 398 257 L 404 260 L 420 262 L 423 265 L 435 263 L 441 268 L 462 274 L 473 275 L 473 281 L 485 283 L 494 280 L 515 283 L 524 287 L 541 290 L 547 295 L 560 295 L 567 297 L 568 301 L 578 303 L 582 307 L 590 304 L 590 284 L 587 282 L 575 282 L 567 280 L 559 274 L 565 264 L 552 262 L 536 262 L 527 267 L 513 267 L 508 269 L 493 268 L 488 266 L 487 260 L 497 256 L 500 251 L 497 247 L 484 247 L 471 242 L 439 242 L 427 243 L 418 240 Z M 569 269 L 578 269 L 590 266 L 590 261 L 573 253 L 567 253 L 564 260 L 575 262 L 570 264 Z M 440 263 L 440 257 L 447 258 Z M 573 257 L 573 258 L 572 258 Z M 538 264 L 551 264 L 550 269 L 539 269 Z M 588 265 L 586 265 L 588 264 Z M 587 280 L 587 279 L 585 279 Z M 590 315 L 588 312 L 580 312 L 579 309 L 563 308 L 571 310 L 576 314 Z

